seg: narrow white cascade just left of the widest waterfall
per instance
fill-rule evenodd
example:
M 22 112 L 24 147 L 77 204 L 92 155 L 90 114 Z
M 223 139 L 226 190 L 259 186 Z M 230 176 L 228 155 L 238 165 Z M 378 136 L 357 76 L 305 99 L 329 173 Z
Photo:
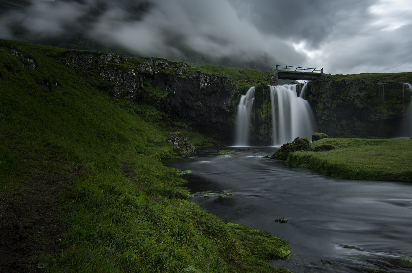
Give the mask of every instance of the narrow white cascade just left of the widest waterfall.
M 246 93 L 240 98 L 239 105 L 237 107 L 237 120 L 236 120 L 236 146 L 248 146 L 249 145 L 249 129 L 250 129 L 250 115 L 252 114 L 253 102 L 255 101 L 255 87 L 252 86 Z

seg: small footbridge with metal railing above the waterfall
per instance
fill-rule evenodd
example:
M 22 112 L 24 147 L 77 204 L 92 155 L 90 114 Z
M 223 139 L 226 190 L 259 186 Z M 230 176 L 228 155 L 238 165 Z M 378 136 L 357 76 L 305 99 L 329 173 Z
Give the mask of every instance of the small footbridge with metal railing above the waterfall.
M 306 68 L 289 65 L 276 65 L 272 76 L 272 84 L 278 85 L 278 79 L 301 79 L 310 81 L 312 79 L 326 79 L 323 68 Z

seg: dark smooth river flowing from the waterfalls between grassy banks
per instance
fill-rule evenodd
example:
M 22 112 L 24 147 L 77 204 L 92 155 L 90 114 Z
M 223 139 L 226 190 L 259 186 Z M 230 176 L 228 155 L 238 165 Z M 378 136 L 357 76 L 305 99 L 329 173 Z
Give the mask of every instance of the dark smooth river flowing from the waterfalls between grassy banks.
M 273 266 L 295 273 L 412 272 L 411 183 L 324 176 L 265 158 L 273 147 L 225 149 L 236 153 L 197 149 L 195 157 L 164 164 L 185 172 L 190 200 L 208 212 L 290 242 L 290 259 Z

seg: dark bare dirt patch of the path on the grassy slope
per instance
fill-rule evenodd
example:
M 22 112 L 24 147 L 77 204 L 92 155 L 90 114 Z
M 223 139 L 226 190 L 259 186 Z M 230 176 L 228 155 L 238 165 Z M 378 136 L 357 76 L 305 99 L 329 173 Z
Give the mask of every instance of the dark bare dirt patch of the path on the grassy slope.
M 51 265 L 63 250 L 66 189 L 85 172 L 77 167 L 69 174 L 42 173 L 27 178 L 17 194 L 0 196 L 0 272 L 44 272 Z

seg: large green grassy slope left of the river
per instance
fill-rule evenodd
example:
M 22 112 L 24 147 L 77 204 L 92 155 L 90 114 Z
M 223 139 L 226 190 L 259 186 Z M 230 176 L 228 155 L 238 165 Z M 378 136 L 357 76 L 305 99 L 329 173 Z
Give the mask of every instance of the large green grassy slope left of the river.
M 0 247 L 0 269 L 288 272 L 265 262 L 287 242 L 186 200 L 181 173 L 159 161 L 176 156 L 162 113 L 111 98 L 95 72 L 56 62 L 60 51 L 0 40 L 0 230 L 23 238 Z

